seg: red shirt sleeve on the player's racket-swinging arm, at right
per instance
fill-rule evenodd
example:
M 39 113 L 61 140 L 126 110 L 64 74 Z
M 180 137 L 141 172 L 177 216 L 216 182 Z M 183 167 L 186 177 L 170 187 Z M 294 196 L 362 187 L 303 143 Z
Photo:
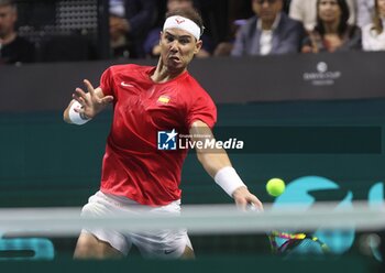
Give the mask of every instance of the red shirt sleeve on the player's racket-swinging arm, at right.
M 199 96 L 189 109 L 186 120 L 188 129 L 197 120 L 205 122 L 210 128 L 213 128 L 217 122 L 217 107 L 207 94 Z

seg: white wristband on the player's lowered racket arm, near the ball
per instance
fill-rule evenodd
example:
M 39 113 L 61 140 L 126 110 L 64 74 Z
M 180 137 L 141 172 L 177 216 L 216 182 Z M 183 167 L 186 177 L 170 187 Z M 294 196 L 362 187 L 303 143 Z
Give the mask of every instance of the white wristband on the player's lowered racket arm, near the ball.
M 231 197 L 237 188 L 246 186 L 237 174 L 235 170 L 230 166 L 219 170 L 213 179 Z

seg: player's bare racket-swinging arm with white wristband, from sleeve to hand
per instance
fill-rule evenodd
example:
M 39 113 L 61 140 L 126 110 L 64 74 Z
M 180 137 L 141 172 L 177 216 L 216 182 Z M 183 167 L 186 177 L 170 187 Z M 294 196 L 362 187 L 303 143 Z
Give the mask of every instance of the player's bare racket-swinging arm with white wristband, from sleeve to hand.
M 193 141 L 215 139 L 211 129 L 200 120 L 193 123 L 189 133 Z M 248 187 L 238 176 L 224 149 L 197 146 L 196 152 L 199 162 L 207 173 L 234 198 L 237 206 L 245 209 L 248 204 L 253 204 L 258 209 L 263 208 L 260 199 L 249 192 Z

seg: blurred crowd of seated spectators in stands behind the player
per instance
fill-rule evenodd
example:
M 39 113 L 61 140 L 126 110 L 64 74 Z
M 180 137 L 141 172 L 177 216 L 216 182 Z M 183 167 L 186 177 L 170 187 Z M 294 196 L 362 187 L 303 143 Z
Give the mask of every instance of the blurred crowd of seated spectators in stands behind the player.
M 38 43 L 18 34 L 18 4 L 0 0 L 0 64 L 44 59 L 37 57 Z M 385 0 L 109 0 L 110 57 L 157 57 L 165 13 L 193 8 L 202 13 L 207 28 L 197 55 L 201 58 L 385 50 Z M 72 51 L 81 48 L 67 35 L 58 42 L 64 51 L 70 47 L 63 46 L 64 40 L 75 45 Z M 50 51 L 65 56 L 54 45 L 41 55 Z M 87 54 L 68 61 L 96 58 Z

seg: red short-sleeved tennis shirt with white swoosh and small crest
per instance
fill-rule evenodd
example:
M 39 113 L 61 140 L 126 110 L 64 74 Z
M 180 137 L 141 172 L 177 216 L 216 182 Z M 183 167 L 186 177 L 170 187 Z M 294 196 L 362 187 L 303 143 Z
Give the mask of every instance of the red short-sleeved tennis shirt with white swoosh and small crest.
M 157 150 L 157 132 L 175 129 L 188 134 L 197 120 L 212 128 L 217 108 L 188 72 L 157 84 L 150 78 L 154 70 L 117 65 L 101 76 L 100 88 L 114 97 L 114 111 L 100 189 L 143 205 L 163 206 L 180 199 L 187 150 Z

